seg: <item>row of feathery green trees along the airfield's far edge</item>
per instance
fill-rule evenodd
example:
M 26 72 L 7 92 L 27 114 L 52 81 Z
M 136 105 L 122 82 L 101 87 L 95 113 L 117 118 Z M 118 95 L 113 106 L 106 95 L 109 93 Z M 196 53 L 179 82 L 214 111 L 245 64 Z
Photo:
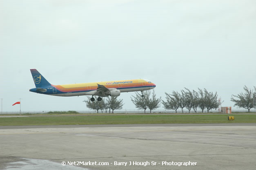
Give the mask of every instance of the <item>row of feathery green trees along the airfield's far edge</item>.
M 238 95 L 232 95 L 231 101 L 235 103 L 234 106 L 238 106 L 240 108 L 247 108 L 248 112 L 251 108 L 256 108 L 256 87 L 254 87 L 254 91 L 244 87 L 245 93 L 240 93 Z M 180 108 L 183 113 L 183 109 L 186 108 L 189 113 L 191 110 L 194 110 L 195 113 L 200 109 L 202 113 L 204 110 L 217 109 L 221 101 L 218 100 L 217 92 L 209 92 L 205 88 L 198 88 L 197 91 L 189 90 L 188 88 L 184 88 L 180 92 L 172 91 L 171 93 L 165 93 L 165 101 L 161 99 L 161 97 L 157 98 L 155 91 L 153 93 L 151 91 L 144 91 L 144 97 L 140 95 L 140 93 L 136 92 L 135 95 L 131 96 L 131 101 L 138 109 L 143 109 L 144 113 L 149 109 L 150 113 L 152 110 L 159 108 L 160 104 L 163 104 L 163 107 L 166 110 L 177 110 Z M 235 99 L 238 98 L 238 99 Z M 117 99 L 117 97 L 106 97 L 102 99 L 102 101 L 95 100 L 94 102 L 90 101 L 90 97 L 83 102 L 86 103 L 86 106 L 92 110 L 99 110 L 103 113 L 109 113 L 112 110 L 122 109 L 123 102 L 122 99 Z

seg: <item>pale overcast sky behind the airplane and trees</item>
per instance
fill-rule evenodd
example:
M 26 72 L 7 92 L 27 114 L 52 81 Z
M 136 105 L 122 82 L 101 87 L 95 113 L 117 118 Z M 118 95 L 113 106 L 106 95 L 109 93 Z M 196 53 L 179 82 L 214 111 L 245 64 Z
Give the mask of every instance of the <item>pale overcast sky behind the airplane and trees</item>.
M 87 96 L 29 92 L 31 68 L 55 85 L 145 78 L 164 100 L 206 88 L 233 107 L 256 86 L 256 1 L 1 0 L 3 111 L 19 98 L 22 111 L 88 110 Z M 131 95 L 123 109 L 136 109 Z

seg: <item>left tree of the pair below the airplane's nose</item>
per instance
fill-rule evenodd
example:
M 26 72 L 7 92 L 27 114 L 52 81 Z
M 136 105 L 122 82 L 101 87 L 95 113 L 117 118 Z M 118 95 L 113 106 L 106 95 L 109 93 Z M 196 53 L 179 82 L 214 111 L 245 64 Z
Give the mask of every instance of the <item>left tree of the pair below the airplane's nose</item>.
M 149 99 L 150 92 L 145 91 L 144 97 L 141 97 L 140 93 L 138 93 L 138 92 L 136 92 L 135 94 L 136 94 L 136 96 L 132 95 L 133 98 L 131 97 L 131 101 L 135 104 L 136 108 L 144 109 L 144 113 L 146 113 L 146 109 L 148 107 L 147 102 Z

